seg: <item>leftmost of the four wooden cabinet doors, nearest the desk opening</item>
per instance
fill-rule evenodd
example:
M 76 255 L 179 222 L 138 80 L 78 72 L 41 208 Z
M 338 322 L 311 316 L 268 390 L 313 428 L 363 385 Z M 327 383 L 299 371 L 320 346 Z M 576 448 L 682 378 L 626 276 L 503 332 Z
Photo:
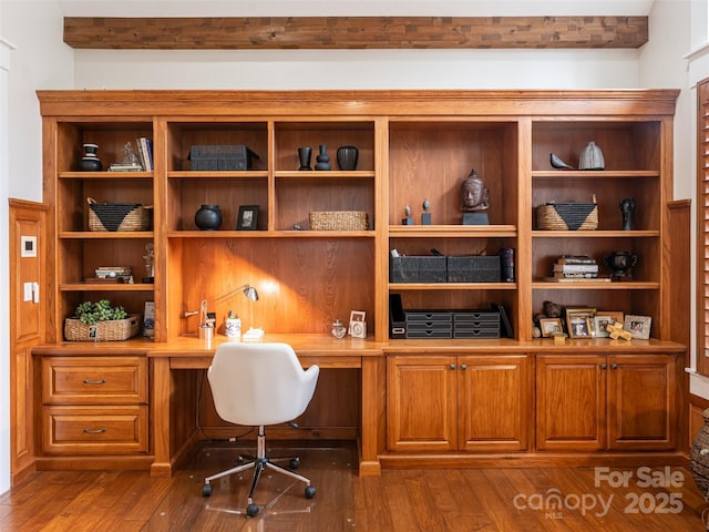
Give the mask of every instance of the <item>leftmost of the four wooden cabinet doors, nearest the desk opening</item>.
M 390 356 L 387 366 L 389 450 L 454 450 L 456 358 Z

